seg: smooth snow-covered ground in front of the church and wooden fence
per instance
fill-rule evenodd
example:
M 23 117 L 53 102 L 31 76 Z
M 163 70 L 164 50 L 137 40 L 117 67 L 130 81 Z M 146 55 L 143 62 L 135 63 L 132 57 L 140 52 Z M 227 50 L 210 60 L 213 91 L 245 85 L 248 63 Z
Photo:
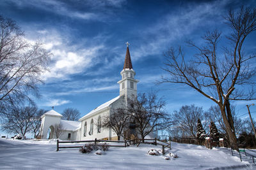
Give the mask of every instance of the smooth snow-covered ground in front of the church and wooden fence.
M 254 169 L 220 150 L 172 143 L 178 158 L 147 155 L 161 146 L 111 147 L 104 155 L 80 153 L 78 148 L 56 152 L 54 141 L 0 139 L 0 169 Z

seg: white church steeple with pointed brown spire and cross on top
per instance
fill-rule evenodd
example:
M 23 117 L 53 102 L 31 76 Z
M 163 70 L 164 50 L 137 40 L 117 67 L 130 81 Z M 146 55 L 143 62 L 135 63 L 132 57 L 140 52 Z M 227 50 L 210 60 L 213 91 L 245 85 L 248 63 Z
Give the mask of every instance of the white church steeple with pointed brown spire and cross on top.
M 120 96 L 136 97 L 137 96 L 137 83 L 139 80 L 134 79 L 135 71 L 132 69 L 131 55 L 129 52 L 129 43 L 126 43 L 126 54 L 124 60 L 124 68 L 121 71 L 122 80 L 118 81 L 120 85 Z

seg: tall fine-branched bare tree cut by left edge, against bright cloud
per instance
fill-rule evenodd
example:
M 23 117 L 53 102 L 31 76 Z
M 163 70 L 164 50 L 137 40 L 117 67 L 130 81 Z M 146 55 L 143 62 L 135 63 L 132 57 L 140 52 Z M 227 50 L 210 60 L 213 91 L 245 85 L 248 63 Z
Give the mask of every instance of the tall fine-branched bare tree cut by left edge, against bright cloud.
M 41 43 L 31 45 L 24 32 L 11 19 L 0 15 L 0 111 L 8 105 L 31 101 L 28 94 L 38 96 L 36 85 L 47 70 L 50 53 Z

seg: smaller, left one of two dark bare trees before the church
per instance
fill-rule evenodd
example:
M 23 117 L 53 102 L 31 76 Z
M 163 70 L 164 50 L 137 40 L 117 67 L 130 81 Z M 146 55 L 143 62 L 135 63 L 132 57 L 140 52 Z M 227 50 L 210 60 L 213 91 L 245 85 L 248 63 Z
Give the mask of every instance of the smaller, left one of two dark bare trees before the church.
M 102 127 L 111 128 L 116 133 L 118 141 L 124 137 L 124 130 L 129 123 L 129 117 L 125 108 L 117 108 L 110 115 L 102 117 Z

